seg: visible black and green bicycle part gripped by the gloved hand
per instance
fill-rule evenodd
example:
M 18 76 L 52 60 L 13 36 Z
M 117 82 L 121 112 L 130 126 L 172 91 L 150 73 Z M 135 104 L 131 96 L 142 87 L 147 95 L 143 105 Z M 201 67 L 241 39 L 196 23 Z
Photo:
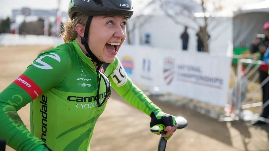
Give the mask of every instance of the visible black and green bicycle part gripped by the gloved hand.
M 176 124 L 178 125 L 176 129 L 182 129 L 188 125 L 188 121 L 184 117 L 178 116 L 176 117 L 175 120 L 176 120 Z M 161 133 L 162 135 L 162 134 L 166 134 L 166 131 L 164 131 L 164 129 L 165 129 L 164 125 L 156 124 L 153 127 L 151 127 L 150 131 L 154 134 Z M 170 137 L 171 136 L 165 138 L 161 136 L 160 141 L 158 143 L 158 151 L 165 151 L 167 140 Z

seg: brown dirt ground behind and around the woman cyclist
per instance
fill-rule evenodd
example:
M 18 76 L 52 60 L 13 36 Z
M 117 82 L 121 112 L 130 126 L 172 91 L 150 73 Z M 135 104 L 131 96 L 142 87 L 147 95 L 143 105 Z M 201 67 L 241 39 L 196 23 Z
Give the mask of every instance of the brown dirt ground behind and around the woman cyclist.
M 0 91 L 20 75 L 39 52 L 50 47 L 0 47 Z M 218 122 L 188 109 L 154 99 L 153 102 L 164 112 L 183 116 L 189 122 L 185 129 L 174 133 L 168 141 L 167 151 L 269 151 L 268 126 L 256 128 L 240 122 Z M 20 109 L 19 115 L 30 129 L 29 105 Z M 91 151 L 155 151 L 159 136 L 151 134 L 149 122 L 150 117 L 113 91 L 95 126 Z M 7 151 L 12 150 L 7 148 Z

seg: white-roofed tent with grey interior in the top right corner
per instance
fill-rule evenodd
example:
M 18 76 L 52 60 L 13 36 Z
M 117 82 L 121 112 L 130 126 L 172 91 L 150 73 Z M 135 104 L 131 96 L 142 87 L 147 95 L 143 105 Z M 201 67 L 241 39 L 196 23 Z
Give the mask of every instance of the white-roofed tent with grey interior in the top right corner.
M 245 42 L 249 46 L 256 34 L 263 34 L 263 24 L 269 21 L 269 0 L 243 6 L 234 12 L 233 45 Z

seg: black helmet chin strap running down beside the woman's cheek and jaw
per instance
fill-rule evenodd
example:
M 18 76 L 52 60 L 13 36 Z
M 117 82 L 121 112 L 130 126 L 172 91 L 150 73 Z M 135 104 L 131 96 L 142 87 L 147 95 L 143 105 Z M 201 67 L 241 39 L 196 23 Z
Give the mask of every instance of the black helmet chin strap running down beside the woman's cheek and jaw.
M 89 35 L 89 30 L 90 30 L 90 24 L 91 24 L 91 20 L 92 20 L 92 19 L 93 19 L 93 16 L 89 16 L 89 18 L 88 18 L 88 20 L 87 20 L 87 23 L 86 23 L 86 27 L 85 27 L 84 37 L 83 37 L 83 38 L 80 37 L 80 38 L 81 38 L 80 42 L 81 42 L 82 45 L 84 45 L 86 51 L 88 52 L 88 53 L 86 53 L 86 56 L 87 56 L 87 57 L 90 57 L 91 60 L 92 60 L 93 62 L 96 62 L 96 65 L 98 66 L 97 70 L 100 70 L 101 65 L 102 65 L 104 62 L 100 61 L 100 60 L 93 54 L 93 52 L 91 52 L 90 47 L 89 47 L 89 45 L 88 45 L 88 43 L 87 43 L 88 35 Z

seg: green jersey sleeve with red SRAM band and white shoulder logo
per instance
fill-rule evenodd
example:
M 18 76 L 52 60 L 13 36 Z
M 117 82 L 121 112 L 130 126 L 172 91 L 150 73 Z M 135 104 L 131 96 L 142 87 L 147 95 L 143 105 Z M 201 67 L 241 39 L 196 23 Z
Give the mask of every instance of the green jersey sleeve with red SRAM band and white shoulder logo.
M 17 111 L 43 92 L 61 85 L 70 66 L 68 53 L 57 47 L 40 53 L 27 69 L 0 93 L 0 138 L 17 151 L 29 151 L 44 142 L 29 132 Z

